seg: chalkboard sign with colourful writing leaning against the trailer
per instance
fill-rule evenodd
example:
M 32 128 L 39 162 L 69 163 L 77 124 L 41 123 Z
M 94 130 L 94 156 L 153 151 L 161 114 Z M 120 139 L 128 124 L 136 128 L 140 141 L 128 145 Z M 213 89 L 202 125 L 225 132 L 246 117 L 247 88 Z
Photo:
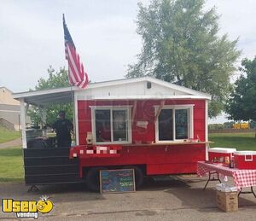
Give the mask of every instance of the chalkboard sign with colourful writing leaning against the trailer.
M 134 169 L 100 172 L 101 193 L 135 192 Z

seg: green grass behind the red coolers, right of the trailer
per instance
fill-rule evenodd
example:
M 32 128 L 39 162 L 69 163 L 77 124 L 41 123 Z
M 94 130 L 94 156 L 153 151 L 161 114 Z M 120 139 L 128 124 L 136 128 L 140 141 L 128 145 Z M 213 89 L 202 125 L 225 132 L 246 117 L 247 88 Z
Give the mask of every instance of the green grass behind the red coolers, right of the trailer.
M 209 134 L 211 148 L 236 148 L 237 150 L 256 150 L 255 133 L 212 133 Z

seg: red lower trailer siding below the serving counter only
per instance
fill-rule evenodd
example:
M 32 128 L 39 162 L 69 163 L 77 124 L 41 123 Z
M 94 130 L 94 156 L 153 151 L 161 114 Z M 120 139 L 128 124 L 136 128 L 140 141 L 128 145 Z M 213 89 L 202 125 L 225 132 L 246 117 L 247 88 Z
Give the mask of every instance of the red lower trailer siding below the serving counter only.
M 119 157 L 80 158 L 80 176 L 88 166 L 145 165 L 147 175 L 195 173 L 197 161 L 205 160 L 205 150 L 204 144 L 125 145 Z

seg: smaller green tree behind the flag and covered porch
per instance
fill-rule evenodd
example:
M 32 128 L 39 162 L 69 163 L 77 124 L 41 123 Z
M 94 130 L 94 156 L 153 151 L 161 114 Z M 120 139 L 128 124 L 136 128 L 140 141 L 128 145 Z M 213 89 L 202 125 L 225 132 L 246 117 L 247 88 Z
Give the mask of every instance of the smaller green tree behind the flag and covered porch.
M 48 68 L 47 72 L 49 73 L 48 79 L 40 78 L 38 80 L 38 84 L 35 86 L 35 90 L 45 90 L 45 89 L 53 89 L 60 87 L 68 87 L 68 75 L 67 70 L 65 68 L 60 68 L 59 72 L 55 72 L 51 66 Z M 52 125 L 58 112 L 60 110 L 66 111 L 67 119 L 73 119 L 73 104 L 65 103 L 65 104 L 52 104 L 46 108 L 46 124 Z M 28 111 L 28 116 L 32 119 L 32 123 L 34 125 L 42 125 L 40 109 L 38 107 L 32 107 Z

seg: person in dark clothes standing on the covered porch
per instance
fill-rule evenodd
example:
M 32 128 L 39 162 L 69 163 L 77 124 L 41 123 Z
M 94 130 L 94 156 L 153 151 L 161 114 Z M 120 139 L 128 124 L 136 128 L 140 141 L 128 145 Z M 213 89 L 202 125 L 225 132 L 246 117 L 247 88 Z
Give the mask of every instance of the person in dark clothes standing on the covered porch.
M 57 146 L 59 148 L 71 146 L 71 131 L 73 131 L 73 124 L 69 119 L 66 119 L 65 111 L 60 111 L 59 119 L 55 121 L 52 128 L 56 131 Z

